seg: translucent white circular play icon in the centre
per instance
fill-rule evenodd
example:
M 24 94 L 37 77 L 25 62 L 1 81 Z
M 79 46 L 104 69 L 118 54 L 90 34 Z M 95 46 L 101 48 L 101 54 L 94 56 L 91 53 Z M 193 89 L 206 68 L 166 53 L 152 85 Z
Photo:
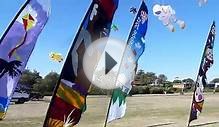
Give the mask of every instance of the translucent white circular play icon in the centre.
M 83 68 L 93 85 L 102 89 L 115 89 L 131 83 L 134 61 L 134 54 L 126 42 L 102 38 L 86 49 Z

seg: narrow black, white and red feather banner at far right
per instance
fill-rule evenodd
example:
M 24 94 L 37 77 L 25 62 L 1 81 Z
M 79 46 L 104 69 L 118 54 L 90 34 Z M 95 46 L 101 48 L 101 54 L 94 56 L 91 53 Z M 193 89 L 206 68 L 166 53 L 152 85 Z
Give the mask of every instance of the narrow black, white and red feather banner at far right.
M 195 83 L 195 90 L 192 99 L 192 106 L 191 106 L 188 126 L 190 125 L 190 122 L 197 119 L 198 115 L 202 112 L 202 108 L 204 104 L 203 90 L 204 87 L 207 85 L 206 73 L 214 62 L 213 47 L 214 47 L 214 40 L 216 33 L 215 31 L 216 31 L 215 22 L 213 22 L 210 28 L 210 32 L 208 34 L 200 68 L 198 71 L 197 80 Z

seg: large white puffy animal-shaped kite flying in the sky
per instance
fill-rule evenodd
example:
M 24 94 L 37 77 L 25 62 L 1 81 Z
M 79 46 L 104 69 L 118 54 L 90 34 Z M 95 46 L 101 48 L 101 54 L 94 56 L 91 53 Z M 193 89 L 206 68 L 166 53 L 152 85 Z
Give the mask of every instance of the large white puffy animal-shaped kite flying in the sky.
M 174 23 L 178 24 L 181 29 L 184 29 L 186 26 L 183 20 L 176 18 L 176 12 L 170 5 L 154 5 L 153 14 L 172 32 L 175 31 Z

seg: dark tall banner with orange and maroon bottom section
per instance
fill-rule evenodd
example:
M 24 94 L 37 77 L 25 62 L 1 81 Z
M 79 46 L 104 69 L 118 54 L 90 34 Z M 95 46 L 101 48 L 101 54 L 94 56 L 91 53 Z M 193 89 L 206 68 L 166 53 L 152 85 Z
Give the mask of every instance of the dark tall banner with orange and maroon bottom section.
M 91 82 L 82 66 L 85 49 L 109 36 L 118 0 L 93 0 L 69 50 L 47 111 L 44 127 L 74 126 L 86 110 Z

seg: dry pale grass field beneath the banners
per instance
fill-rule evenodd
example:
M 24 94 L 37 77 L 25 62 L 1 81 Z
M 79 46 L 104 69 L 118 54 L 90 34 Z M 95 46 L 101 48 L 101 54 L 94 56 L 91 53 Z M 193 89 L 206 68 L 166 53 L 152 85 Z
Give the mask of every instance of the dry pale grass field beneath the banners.
M 41 127 L 47 101 L 11 105 L 0 127 Z M 88 97 L 88 110 L 77 127 L 103 127 L 109 97 Z M 108 127 L 186 127 L 191 105 L 190 95 L 142 95 L 128 97 L 126 116 Z M 205 95 L 204 110 L 193 127 L 219 127 L 219 94 Z

